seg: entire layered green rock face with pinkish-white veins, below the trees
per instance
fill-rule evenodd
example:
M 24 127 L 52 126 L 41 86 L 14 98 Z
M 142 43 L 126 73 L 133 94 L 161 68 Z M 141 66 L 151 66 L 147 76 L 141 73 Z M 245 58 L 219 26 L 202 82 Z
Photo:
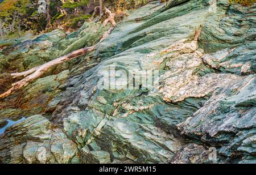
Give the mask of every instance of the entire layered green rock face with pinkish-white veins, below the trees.
M 30 112 L 3 134 L 0 161 L 255 163 L 255 7 L 177 0 L 131 12 L 95 52 L 0 103 L 3 122 Z M 46 33 L 0 58 L 28 69 L 40 65 L 36 56 L 96 44 L 108 28 L 85 23 L 62 39 Z M 156 78 L 144 86 L 147 72 Z

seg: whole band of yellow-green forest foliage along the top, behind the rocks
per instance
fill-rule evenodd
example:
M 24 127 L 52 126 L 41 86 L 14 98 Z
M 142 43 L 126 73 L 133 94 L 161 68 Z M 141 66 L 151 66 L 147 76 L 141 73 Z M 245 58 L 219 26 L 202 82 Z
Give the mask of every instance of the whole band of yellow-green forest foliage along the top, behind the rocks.
M 98 0 L 94 1 L 90 7 L 89 0 L 50 0 L 49 14 L 39 14 L 38 1 L 3 0 L 0 3 L 0 35 L 15 36 L 28 30 L 38 33 L 44 31 L 46 26 L 47 30 L 60 26 L 75 29 L 88 20 L 89 14 L 93 14 L 94 6 L 99 3 Z M 141 7 L 147 1 L 149 0 L 104 0 L 104 6 L 114 11 L 118 20 L 120 16 L 120 19 L 125 16 L 126 10 Z M 47 18 L 47 15 L 51 18 Z M 47 19 L 51 20 L 51 24 L 47 24 Z

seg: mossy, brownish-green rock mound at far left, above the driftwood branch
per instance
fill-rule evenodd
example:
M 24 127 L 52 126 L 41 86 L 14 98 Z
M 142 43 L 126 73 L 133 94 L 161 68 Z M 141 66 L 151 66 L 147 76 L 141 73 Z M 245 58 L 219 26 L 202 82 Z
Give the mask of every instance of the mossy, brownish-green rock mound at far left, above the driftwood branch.
M 2 63 L 0 72 L 6 72 L 7 69 L 24 71 L 55 59 L 58 56 L 54 54 L 58 49 L 56 44 L 64 37 L 64 31 L 56 30 L 3 49 L 2 59 L 6 62 Z

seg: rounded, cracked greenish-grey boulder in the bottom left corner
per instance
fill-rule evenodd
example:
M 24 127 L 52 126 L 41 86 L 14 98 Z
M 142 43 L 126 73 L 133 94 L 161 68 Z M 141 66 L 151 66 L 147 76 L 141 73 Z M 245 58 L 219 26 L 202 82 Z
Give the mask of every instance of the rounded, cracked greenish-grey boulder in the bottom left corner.
M 40 115 L 11 126 L 0 144 L 3 163 L 69 163 L 77 152 L 76 144 Z

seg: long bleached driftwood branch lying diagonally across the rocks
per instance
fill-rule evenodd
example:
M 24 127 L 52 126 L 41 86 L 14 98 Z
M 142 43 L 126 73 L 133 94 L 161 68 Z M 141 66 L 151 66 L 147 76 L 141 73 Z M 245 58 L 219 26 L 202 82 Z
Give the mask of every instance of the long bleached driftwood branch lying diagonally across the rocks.
M 88 54 L 90 51 L 94 50 L 98 44 L 100 44 L 104 39 L 106 39 L 106 37 L 108 37 L 110 35 L 111 31 L 114 29 L 114 27 L 116 25 L 115 20 L 114 20 L 115 14 L 113 14 L 106 7 L 105 7 L 105 10 L 106 10 L 106 14 L 108 14 L 109 17 L 108 17 L 108 19 L 105 20 L 104 25 L 107 25 L 108 23 L 110 23 L 112 26 L 109 28 L 108 31 L 106 31 L 101 36 L 100 41 L 96 45 L 85 47 L 85 48 L 82 48 L 82 49 L 79 49 L 79 50 L 75 50 L 72 53 L 69 53 L 65 56 L 53 59 L 52 61 L 44 63 L 41 66 L 33 67 L 30 70 L 10 74 L 12 78 L 16 78 L 16 77 L 19 77 L 19 76 L 24 76 L 25 78 L 23 78 L 19 82 L 13 83 L 12 88 L 10 88 L 9 91 L 6 91 L 5 93 L 2 93 L 0 95 L 0 98 L 5 98 L 5 97 L 11 95 L 12 93 L 14 93 L 15 91 L 17 91 L 18 89 L 20 89 L 24 86 L 27 86 L 28 83 L 32 82 L 32 80 L 35 80 L 39 76 L 43 75 L 44 72 L 46 72 L 50 67 L 52 67 L 54 65 L 57 65 L 57 64 L 60 64 L 60 63 L 63 63 L 65 61 L 77 58 L 79 56 L 83 56 L 85 54 Z

